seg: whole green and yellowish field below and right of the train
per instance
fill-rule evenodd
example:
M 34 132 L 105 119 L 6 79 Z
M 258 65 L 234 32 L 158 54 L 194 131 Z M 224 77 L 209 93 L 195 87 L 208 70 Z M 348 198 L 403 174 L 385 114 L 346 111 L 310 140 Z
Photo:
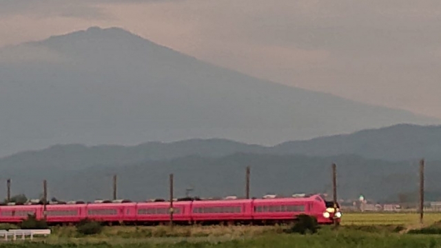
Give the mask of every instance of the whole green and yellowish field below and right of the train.
M 418 214 L 345 214 L 337 229 L 318 234 L 285 234 L 287 226 L 105 227 L 101 234 L 81 236 L 75 227 L 54 227 L 35 242 L 0 243 L 1 247 L 440 247 L 441 214 L 424 215 L 437 234 L 410 234 L 419 229 Z

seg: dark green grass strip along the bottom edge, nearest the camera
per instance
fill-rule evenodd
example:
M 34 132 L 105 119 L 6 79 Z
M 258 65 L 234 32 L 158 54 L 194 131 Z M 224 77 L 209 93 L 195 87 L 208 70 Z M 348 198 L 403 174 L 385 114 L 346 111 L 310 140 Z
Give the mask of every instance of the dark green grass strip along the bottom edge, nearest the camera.
M 150 240 L 132 240 L 132 242 L 83 242 L 68 244 L 51 243 L 16 243 L 2 247 L 149 247 L 149 248 L 316 248 L 316 247 L 441 247 L 441 236 L 410 234 L 378 234 L 360 230 L 342 229 L 338 231 L 322 230 L 320 234 L 265 234 L 256 238 L 236 238 L 231 240 L 176 240 L 175 242 L 151 242 Z

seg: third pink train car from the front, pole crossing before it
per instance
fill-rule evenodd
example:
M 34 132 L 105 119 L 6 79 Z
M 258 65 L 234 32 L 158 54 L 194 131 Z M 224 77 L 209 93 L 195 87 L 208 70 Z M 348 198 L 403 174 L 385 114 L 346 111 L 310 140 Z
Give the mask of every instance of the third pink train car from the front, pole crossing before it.
M 190 223 L 191 201 L 173 202 L 173 220 Z M 136 205 L 136 221 L 146 224 L 165 223 L 170 220 L 170 202 L 138 203 Z

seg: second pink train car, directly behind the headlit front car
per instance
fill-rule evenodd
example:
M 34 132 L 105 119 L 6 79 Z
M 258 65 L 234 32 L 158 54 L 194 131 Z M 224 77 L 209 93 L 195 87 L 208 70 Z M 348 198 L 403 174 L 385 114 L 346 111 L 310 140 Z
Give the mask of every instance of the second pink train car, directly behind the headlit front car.
M 252 220 L 252 200 L 198 200 L 192 203 L 196 223 L 237 223 Z

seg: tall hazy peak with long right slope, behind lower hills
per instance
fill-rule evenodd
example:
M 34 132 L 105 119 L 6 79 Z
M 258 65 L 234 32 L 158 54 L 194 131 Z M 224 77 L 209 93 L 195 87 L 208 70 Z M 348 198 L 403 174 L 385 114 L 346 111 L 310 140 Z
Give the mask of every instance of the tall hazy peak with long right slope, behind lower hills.
M 439 123 L 256 79 L 119 28 L 1 48 L 0 75 L 0 156 L 54 144 L 187 138 L 274 145 L 396 123 Z

